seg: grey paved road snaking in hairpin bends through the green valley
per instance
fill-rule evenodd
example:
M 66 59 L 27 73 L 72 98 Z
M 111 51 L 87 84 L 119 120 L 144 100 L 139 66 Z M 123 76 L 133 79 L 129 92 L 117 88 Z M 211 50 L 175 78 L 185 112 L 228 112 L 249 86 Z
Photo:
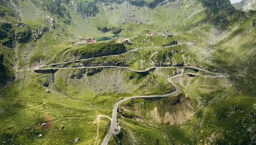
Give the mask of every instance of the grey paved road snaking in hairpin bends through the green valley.
M 104 57 L 106 57 L 106 56 L 104 56 Z M 81 61 L 81 60 L 77 60 L 77 61 Z M 76 60 L 75 61 L 68 61 L 68 62 L 65 62 L 65 63 L 73 63 L 73 62 L 77 62 L 77 61 Z M 59 64 L 64 64 L 64 63 L 59 63 Z M 224 78 L 224 77 L 228 77 L 229 76 L 226 73 L 210 72 L 210 71 L 207 71 L 205 69 L 201 69 L 201 68 L 197 68 L 197 67 L 150 67 L 150 68 L 147 68 L 146 70 L 143 70 L 143 71 L 138 71 L 138 70 L 135 70 L 135 69 L 132 69 L 132 68 L 128 68 L 128 67 L 121 67 L 121 66 L 114 66 L 114 65 L 113 66 L 110 65 L 110 66 L 76 67 L 76 68 L 42 68 L 42 67 L 53 66 L 53 65 L 58 65 L 58 64 L 40 65 L 38 67 L 35 67 L 34 71 L 35 72 L 38 72 L 38 71 L 51 71 L 51 70 L 56 71 L 56 70 L 59 70 L 59 69 L 85 69 L 85 68 L 123 68 L 123 69 L 127 69 L 128 71 L 135 72 L 135 73 L 143 73 L 143 72 L 153 71 L 156 68 L 185 68 L 185 69 L 196 69 L 196 70 L 199 70 L 199 71 L 203 71 L 203 72 L 207 72 L 207 73 L 213 74 L 213 75 L 204 75 L 204 74 L 197 74 L 197 73 L 180 73 L 180 74 L 176 74 L 175 76 L 171 76 L 171 77 L 168 78 L 168 81 L 175 87 L 175 91 L 172 92 L 172 93 L 161 94 L 161 95 L 151 95 L 151 96 L 133 96 L 133 97 L 127 97 L 127 98 L 124 98 L 124 99 L 118 101 L 117 103 L 115 103 L 114 108 L 113 108 L 110 130 L 109 130 L 108 134 L 106 135 L 102 145 L 107 145 L 108 144 L 109 139 L 114 134 L 115 129 L 117 129 L 117 126 L 118 126 L 118 123 L 117 123 L 117 109 L 118 109 L 118 106 L 121 105 L 123 102 L 126 102 L 126 101 L 134 99 L 134 98 L 163 98 L 163 97 L 168 97 L 168 96 L 175 95 L 175 94 L 180 92 L 180 88 L 179 88 L 179 86 L 174 84 L 174 82 L 172 82 L 172 79 L 176 78 L 176 77 L 183 76 L 184 74 L 190 74 L 192 76 L 214 77 L 214 78 L 215 77 Z

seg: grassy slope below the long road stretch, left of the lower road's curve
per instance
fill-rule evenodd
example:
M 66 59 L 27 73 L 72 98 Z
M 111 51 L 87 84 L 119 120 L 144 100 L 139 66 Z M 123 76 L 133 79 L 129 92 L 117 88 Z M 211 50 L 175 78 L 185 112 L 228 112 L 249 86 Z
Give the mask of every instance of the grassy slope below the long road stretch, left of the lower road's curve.
M 170 88 L 154 74 L 142 77 L 116 69 L 104 69 L 93 76 L 83 72 L 63 70 L 52 75 L 28 71 L 22 74 L 26 80 L 17 79 L 1 89 L 1 142 L 67 144 L 80 138 L 81 144 L 93 144 L 97 132 L 97 126 L 93 123 L 97 115 L 110 116 L 110 110 L 117 100 L 134 93 L 167 92 Z M 82 78 L 79 77 L 81 74 Z M 148 81 L 153 81 L 152 85 L 157 87 L 152 89 L 145 85 Z M 45 92 L 46 89 L 49 89 L 49 93 Z M 40 126 L 43 122 L 49 124 L 47 128 Z M 101 125 L 105 123 L 109 123 L 108 119 L 101 121 Z M 98 140 L 104 138 L 105 130 L 106 126 L 100 127 Z M 43 136 L 39 137 L 39 134 Z

